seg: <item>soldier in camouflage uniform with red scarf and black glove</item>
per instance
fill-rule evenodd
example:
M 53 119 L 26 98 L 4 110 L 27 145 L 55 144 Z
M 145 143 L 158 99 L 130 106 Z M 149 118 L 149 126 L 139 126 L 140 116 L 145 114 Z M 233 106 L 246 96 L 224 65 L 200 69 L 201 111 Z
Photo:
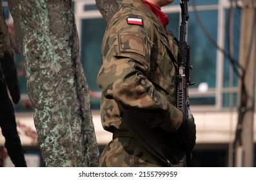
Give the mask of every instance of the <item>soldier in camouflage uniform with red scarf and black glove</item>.
M 101 121 L 113 140 L 100 167 L 172 167 L 195 145 L 195 123 L 176 107 L 177 44 L 161 7 L 123 0 L 103 38 Z

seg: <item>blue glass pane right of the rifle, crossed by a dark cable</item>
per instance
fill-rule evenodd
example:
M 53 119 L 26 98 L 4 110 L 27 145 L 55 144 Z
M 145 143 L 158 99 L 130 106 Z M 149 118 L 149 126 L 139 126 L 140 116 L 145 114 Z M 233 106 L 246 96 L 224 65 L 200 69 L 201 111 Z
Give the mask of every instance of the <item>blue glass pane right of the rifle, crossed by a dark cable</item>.
M 217 10 L 197 12 L 209 35 L 217 40 Z M 209 87 L 216 85 L 216 48 L 206 37 L 195 13 L 190 13 L 188 22 L 188 44 L 191 46 L 192 81 L 198 87 L 201 82 L 207 82 Z

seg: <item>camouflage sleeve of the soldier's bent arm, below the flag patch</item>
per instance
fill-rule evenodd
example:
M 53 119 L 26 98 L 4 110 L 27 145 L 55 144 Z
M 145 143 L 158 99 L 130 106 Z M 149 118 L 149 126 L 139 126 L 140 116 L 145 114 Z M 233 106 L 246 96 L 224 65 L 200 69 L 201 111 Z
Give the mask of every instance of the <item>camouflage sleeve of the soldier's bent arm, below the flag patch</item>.
M 183 115 L 150 82 L 153 30 L 146 23 L 130 25 L 124 19 L 110 26 L 103 40 L 103 66 L 97 84 L 103 96 L 114 100 L 120 109 L 146 121 L 151 128 L 174 132 Z

